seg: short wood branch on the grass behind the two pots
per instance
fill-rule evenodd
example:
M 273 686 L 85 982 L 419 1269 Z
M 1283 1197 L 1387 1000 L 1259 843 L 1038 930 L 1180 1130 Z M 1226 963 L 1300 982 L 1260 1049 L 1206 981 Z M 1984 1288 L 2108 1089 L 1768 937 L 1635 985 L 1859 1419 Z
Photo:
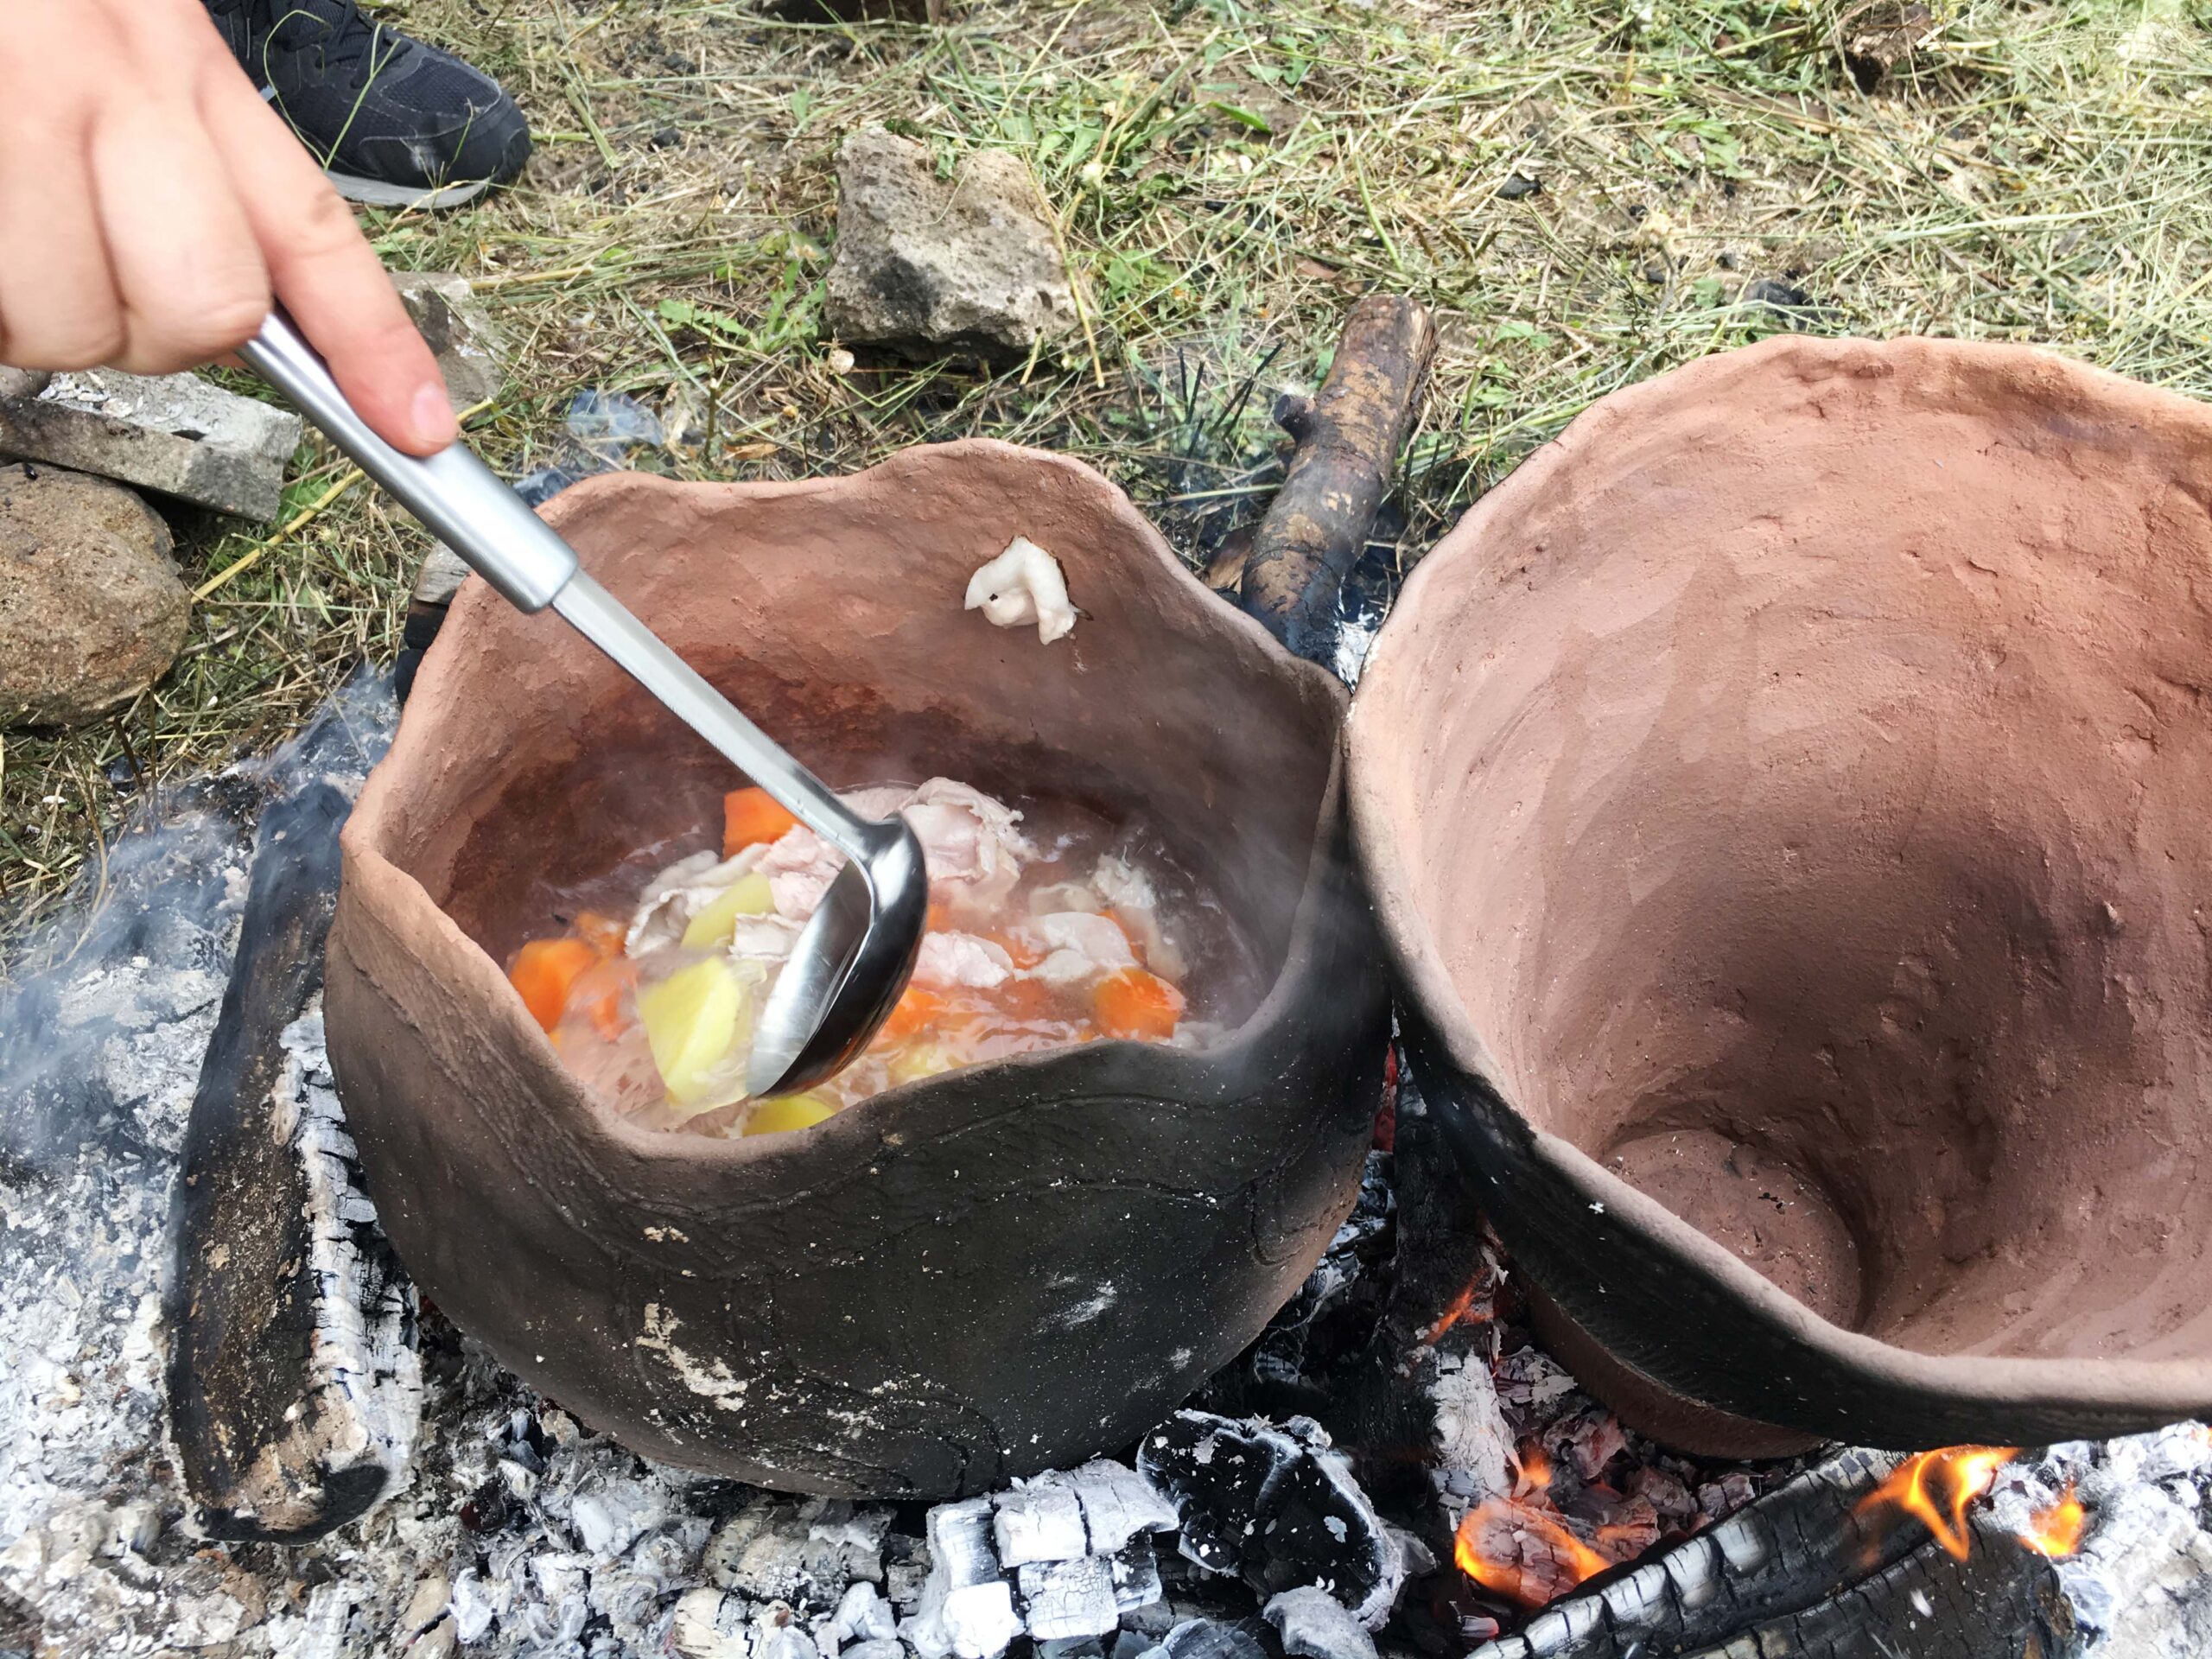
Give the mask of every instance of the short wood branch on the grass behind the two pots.
M 1418 301 L 1369 294 L 1345 319 L 1321 392 L 1276 409 L 1298 447 L 1252 535 L 1239 597 L 1301 657 L 1334 653 L 1336 595 L 1389 493 L 1433 356 Z

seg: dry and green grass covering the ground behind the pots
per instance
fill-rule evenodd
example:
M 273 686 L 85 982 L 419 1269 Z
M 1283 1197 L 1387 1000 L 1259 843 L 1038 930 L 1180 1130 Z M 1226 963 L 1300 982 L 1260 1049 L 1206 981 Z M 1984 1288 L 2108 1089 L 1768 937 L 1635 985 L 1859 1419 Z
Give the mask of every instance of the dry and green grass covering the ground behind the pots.
M 524 188 L 372 215 L 396 268 L 460 270 L 509 385 L 473 440 L 560 453 L 575 392 L 664 416 L 637 465 L 799 478 L 902 445 L 1048 445 L 1192 560 L 1272 484 L 1270 394 L 1345 305 L 1427 299 L 1442 349 L 1400 560 L 1590 400 L 1776 327 L 2039 341 L 2212 396 L 2212 9 L 1942 7 L 1860 91 L 1825 2 L 969 0 L 799 24 L 710 0 L 411 0 L 540 137 Z M 1878 20 L 1878 13 L 1876 13 Z M 1851 29 L 1867 27 L 1858 13 Z M 945 166 L 1024 150 L 1088 330 L 1024 369 L 836 372 L 823 276 L 841 135 Z M 1535 188 L 1528 188 L 1528 186 Z M 1796 303 L 1803 299 L 1803 303 Z M 195 524 L 177 670 L 124 714 L 0 752 L 0 916 L 49 909 L 179 772 L 292 730 L 389 657 L 425 538 L 303 453 L 281 533 Z M 7 958 L 0 956 L 0 971 Z

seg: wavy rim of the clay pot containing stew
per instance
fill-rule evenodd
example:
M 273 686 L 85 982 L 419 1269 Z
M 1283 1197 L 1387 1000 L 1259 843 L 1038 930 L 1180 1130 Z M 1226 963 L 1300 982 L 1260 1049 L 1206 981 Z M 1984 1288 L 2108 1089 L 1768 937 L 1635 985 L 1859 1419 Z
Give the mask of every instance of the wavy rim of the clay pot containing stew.
M 1252 1013 L 1232 1026 L 1221 1042 L 1208 1048 L 1168 1048 L 1152 1042 L 1108 1037 L 1073 1048 L 1048 1048 L 1033 1055 L 1013 1055 L 978 1066 L 962 1066 L 960 1071 L 942 1077 L 925 1077 L 920 1082 L 887 1088 L 858 1104 L 874 1106 L 891 1099 L 909 1102 L 940 1091 L 967 1088 L 982 1079 L 1024 1075 L 1037 1079 L 1035 1093 L 1079 1095 L 1088 1091 L 1088 1073 L 1110 1068 L 1126 1079 L 1133 1064 L 1137 1066 L 1139 1077 L 1150 1073 L 1150 1077 L 1157 1079 L 1161 1095 L 1170 1099 L 1203 1095 L 1210 1086 L 1230 1088 L 1232 1079 L 1241 1071 L 1250 1071 L 1259 1055 L 1276 1046 L 1290 1046 L 1296 1037 L 1290 1029 L 1290 1015 L 1305 995 L 1301 989 L 1301 975 L 1310 973 L 1312 962 L 1316 960 L 1314 945 L 1321 927 L 1325 925 L 1332 865 L 1336 865 L 1336 856 L 1332 852 L 1332 825 L 1340 818 L 1345 801 L 1345 750 L 1340 734 L 1345 710 L 1349 706 L 1349 692 L 1327 668 L 1292 655 L 1254 617 L 1228 604 L 1221 595 L 1199 582 L 1197 575 L 1192 575 L 1190 568 L 1175 555 L 1175 549 L 1168 546 L 1166 538 L 1152 526 L 1152 522 L 1137 511 L 1135 502 L 1128 500 L 1128 493 L 1121 487 L 1095 467 L 1068 456 L 1011 445 L 1000 438 L 960 438 L 942 445 L 911 445 L 887 456 L 885 460 L 878 460 L 874 467 L 865 467 L 854 473 L 803 480 L 684 482 L 641 471 L 595 473 L 577 480 L 546 502 L 544 518 L 553 524 L 553 529 L 562 529 L 564 520 L 575 509 L 586 507 L 593 495 L 624 489 L 641 489 L 646 493 L 664 495 L 706 495 L 726 502 L 832 495 L 858 487 L 865 478 L 927 471 L 945 465 L 947 460 L 973 458 L 982 458 L 993 465 L 1046 465 L 1073 473 L 1082 480 L 1084 489 L 1104 495 L 1108 515 L 1152 555 L 1152 566 L 1157 568 L 1152 580 L 1183 588 L 1194 604 L 1219 606 L 1232 628 L 1241 630 L 1248 641 L 1261 650 L 1261 655 L 1276 664 L 1276 668 L 1287 670 L 1292 684 L 1303 684 L 1307 697 L 1318 697 L 1323 703 L 1334 708 L 1336 734 L 1329 741 L 1327 781 L 1323 785 L 1321 812 L 1314 823 L 1312 854 L 1305 865 L 1305 883 L 1292 914 L 1281 967 L 1274 971 L 1265 995 Z M 504 608 L 504 604 L 507 602 L 500 599 L 489 584 L 473 575 L 453 597 L 456 611 L 462 606 Z M 442 664 L 447 655 L 440 653 L 445 637 L 447 633 L 440 633 L 440 639 L 425 653 L 420 668 L 422 681 L 418 684 L 436 684 L 436 679 L 445 672 Z M 761 1137 L 706 1137 L 655 1130 L 622 1117 L 595 1091 L 584 1088 L 584 1084 L 577 1082 L 577 1077 L 562 1064 L 544 1029 L 540 1029 L 540 1024 L 522 1006 L 520 993 L 515 993 L 500 964 L 493 962 L 491 956 L 473 938 L 469 938 L 469 933 L 451 916 L 447 916 L 445 907 L 429 896 L 422 883 L 369 845 L 367 825 L 385 821 L 383 799 L 387 790 L 396 787 L 394 774 L 385 768 L 392 754 L 400 754 L 407 739 L 407 719 L 403 714 L 392 750 L 385 761 L 378 761 L 378 765 L 369 772 L 354 814 L 341 832 L 341 887 L 347 883 L 356 889 L 383 887 L 389 896 L 387 902 L 409 909 L 420 907 L 420 911 L 427 914 L 427 922 L 445 945 L 449 960 L 460 973 L 473 975 L 462 991 L 487 998 L 487 1006 L 493 1009 L 493 1018 L 502 1020 L 518 1033 L 518 1057 L 522 1064 L 533 1068 L 529 1086 L 549 1102 L 549 1108 L 568 1117 L 573 1133 L 582 1139 L 599 1137 L 602 1144 L 611 1146 L 611 1150 L 617 1150 L 626 1159 L 639 1164 L 681 1164 L 701 1175 L 710 1175 L 717 1168 L 737 1168 L 772 1159 L 796 1146 L 834 1146 L 836 1141 L 860 1144 L 876 1139 L 876 1128 L 869 1121 L 872 1115 L 863 1110 L 843 1110 L 801 1130 Z M 1347 872 L 1336 874 L 1338 878 L 1349 878 Z M 1121 1082 L 1110 1091 L 1099 1088 L 1097 1093 L 1133 1095 L 1135 1091 Z

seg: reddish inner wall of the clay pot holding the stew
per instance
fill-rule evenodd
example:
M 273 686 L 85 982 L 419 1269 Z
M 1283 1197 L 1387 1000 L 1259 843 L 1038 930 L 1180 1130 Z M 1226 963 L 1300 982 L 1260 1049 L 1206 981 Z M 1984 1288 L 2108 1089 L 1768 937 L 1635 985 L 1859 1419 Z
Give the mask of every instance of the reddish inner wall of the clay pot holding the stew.
M 964 489 L 947 491 L 947 473 Z M 1157 834 L 1237 936 L 1214 962 L 1201 938 L 1199 973 L 1256 958 L 1256 984 L 1232 998 L 1250 1013 L 1307 885 L 1336 699 L 1164 573 L 1141 520 L 1055 484 L 1024 458 L 938 467 L 896 515 L 872 493 L 792 489 L 741 513 L 714 511 L 714 491 L 659 493 L 646 518 L 617 487 L 573 507 L 564 531 L 832 785 L 947 774 Z M 1073 637 L 1046 646 L 962 608 L 967 573 L 1015 533 L 1062 557 L 1086 613 Z M 449 726 L 460 752 L 387 854 L 504 962 L 626 860 L 641 883 L 712 845 L 739 779 L 553 617 L 482 624 L 478 650 L 502 672 L 451 668 L 482 692 L 482 721 Z

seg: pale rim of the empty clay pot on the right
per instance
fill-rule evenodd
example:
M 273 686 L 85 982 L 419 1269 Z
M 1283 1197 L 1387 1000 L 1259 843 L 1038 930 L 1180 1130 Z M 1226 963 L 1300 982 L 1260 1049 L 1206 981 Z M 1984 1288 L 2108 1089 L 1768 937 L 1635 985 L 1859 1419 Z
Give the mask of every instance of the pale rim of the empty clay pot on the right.
M 2055 385 L 2073 407 L 2093 407 L 2106 418 L 2135 427 L 2188 422 L 2203 434 L 2205 447 L 2212 449 L 2212 407 L 2194 398 L 2146 387 L 2121 374 L 2033 345 L 1929 336 L 1829 341 L 1783 334 L 1756 345 L 1694 358 L 1599 398 L 1575 416 L 1557 438 L 1515 467 L 1504 482 L 1482 495 L 1447 531 L 1436 549 L 1413 566 L 1413 575 L 1407 577 L 1398 604 L 1391 608 L 1369 650 L 1360 675 L 1360 690 L 1354 695 L 1352 712 L 1345 719 L 1347 801 L 1354 825 L 1354 849 L 1374 896 L 1376 918 L 1391 962 L 1400 973 L 1409 1000 L 1418 1004 L 1422 1024 L 1433 1033 L 1453 1066 L 1469 1073 L 1513 1113 L 1515 1124 L 1526 1130 L 1533 1155 L 1571 1183 L 1593 1212 L 1650 1237 L 1663 1250 L 1703 1270 L 1739 1301 L 1750 1303 L 1756 1316 L 1781 1327 L 1814 1354 L 1851 1371 L 1878 1376 L 1953 1405 L 2079 1405 L 2115 1413 L 2159 1411 L 2172 1418 L 2194 1416 L 2212 1402 L 2212 1358 L 2135 1360 L 1922 1354 L 1878 1336 L 1851 1332 L 1812 1312 L 1805 1303 L 1745 1265 L 1732 1250 L 1613 1175 L 1613 1170 L 1582 1148 L 1537 1128 L 1526 1117 L 1513 1099 L 1511 1088 L 1504 1086 L 1502 1066 L 1460 1002 L 1436 931 L 1416 902 L 1402 843 L 1387 812 L 1385 790 L 1376 781 L 1378 763 L 1365 759 L 1365 752 L 1407 741 L 1405 734 L 1376 730 L 1376 721 L 1383 719 L 1376 712 L 1380 699 L 1378 695 L 1369 695 L 1369 688 L 1378 684 L 1376 668 L 1389 659 L 1394 637 L 1405 637 L 1407 619 L 1420 611 L 1427 588 L 1442 580 L 1440 571 L 1447 564 L 1489 564 L 1511 557 L 1506 549 L 1486 546 L 1491 524 L 1509 515 L 1524 500 L 1548 489 L 1584 447 L 1606 445 L 1619 431 L 1632 429 L 1632 422 L 1641 420 L 1655 407 L 1677 405 L 1683 398 L 1725 400 L 1730 383 L 1776 369 L 1787 372 L 1792 365 L 1803 365 L 1807 374 L 1823 376 L 1854 372 L 1924 376 L 1929 369 L 1953 369 L 1962 378 L 1978 378 L 1991 369 L 2015 376 L 2026 369 L 2046 387 Z M 1584 1310 L 1571 1312 L 1584 1318 Z M 1666 1378 L 1657 1380 L 1666 1383 Z M 1770 1416 L 1770 1420 L 1781 1418 Z

